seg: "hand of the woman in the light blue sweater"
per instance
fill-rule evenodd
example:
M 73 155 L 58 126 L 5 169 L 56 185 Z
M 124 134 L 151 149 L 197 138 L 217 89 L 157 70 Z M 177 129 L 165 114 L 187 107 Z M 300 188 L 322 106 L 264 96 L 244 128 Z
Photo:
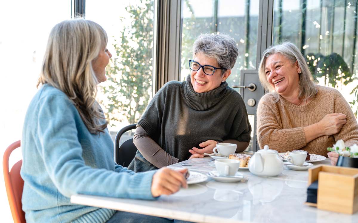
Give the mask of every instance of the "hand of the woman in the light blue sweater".
M 153 175 L 150 191 L 153 197 L 169 195 L 179 191 L 180 187 L 188 188 L 184 174 L 188 169 L 173 170 L 167 167 L 160 168 Z

